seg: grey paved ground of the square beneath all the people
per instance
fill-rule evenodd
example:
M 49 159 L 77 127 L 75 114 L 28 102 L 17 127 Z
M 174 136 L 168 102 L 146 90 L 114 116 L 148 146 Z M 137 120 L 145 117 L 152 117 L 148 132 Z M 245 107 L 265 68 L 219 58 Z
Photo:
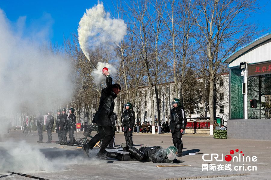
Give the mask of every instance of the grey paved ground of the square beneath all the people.
M 92 133 L 95 135 L 95 133 Z M 80 138 L 80 133 L 77 133 Z M 170 134 L 152 135 L 140 133 L 133 135 L 135 147 L 157 146 L 164 148 L 172 145 Z M 271 179 L 271 141 L 256 140 L 225 140 L 213 139 L 210 136 L 198 134 L 183 135 L 184 154 L 199 153 L 217 153 L 218 160 L 221 160 L 221 153 L 230 155 L 230 150 L 239 149 L 235 156 L 239 157 L 241 153 L 241 162 L 217 162 L 215 159 L 210 162 L 202 160 L 202 155 L 185 155 L 178 158 L 185 161 L 181 164 L 189 164 L 191 167 L 156 167 L 157 164 L 151 162 L 129 162 L 116 161 L 109 159 L 107 161 L 95 158 L 99 148 L 94 148 L 90 153 L 90 158 L 84 158 L 82 149 L 76 146 L 61 146 L 55 143 L 36 143 L 38 140 L 37 132 L 33 136 L 23 136 L 21 131 L 10 131 L 9 134 L 0 135 L 0 178 L 1 180 L 30 179 L 18 175 L 8 175 L 7 170 L 19 173 L 30 174 L 45 179 L 171 179 L 181 177 L 210 177 L 223 175 L 237 175 L 249 173 L 249 176 L 232 176 L 208 178 L 215 179 Z M 46 132 L 43 133 L 43 140 L 47 141 Z M 57 134 L 53 133 L 53 140 L 57 140 Z M 124 142 L 123 133 L 116 133 L 116 145 Z M 119 147 L 119 146 L 117 146 Z M 108 150 L 109 151 L 109 150 Z M 111 151 L 118 151 L 117 149 Z M 256 162 L 243 162 L 244 157 L 256 156 Z M 234 156 L 232 155 L 232 157 Z M 206 160 L 210 155 L 204 156 Z M 214 164 L 216 170 L 202 170 L 202 164 Z M 232 170 L 217 170 L 219 164 L 231 164 Z M 244 170 L 243 170 L 244 164 Z M 168 164 L 164 164 L 168 165 Z M 172 164 L 170 164 L 172 165 Z M 241 170 L 234 170 L 235 166 L 241 166 Z M 248 166 L 256 166 L 257 170 L 245 171 Z M 255 167 L 254 167 L 255 168 Z M 1 177 L 5 176 L 5 177 Z

